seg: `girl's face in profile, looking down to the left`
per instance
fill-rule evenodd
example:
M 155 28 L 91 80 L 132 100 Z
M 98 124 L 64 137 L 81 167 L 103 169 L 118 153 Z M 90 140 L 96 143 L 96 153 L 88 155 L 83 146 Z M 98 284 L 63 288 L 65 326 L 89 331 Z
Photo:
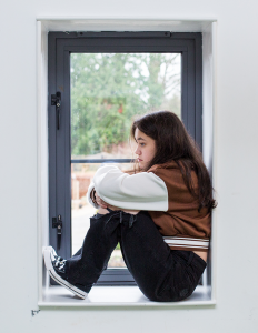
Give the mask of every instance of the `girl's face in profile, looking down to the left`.
M 138 163 L 141 170 L 147 171 L 149 162 L 155 158 L 157 149 L 156 141 L 142 133 L 138 128 L 135 132 L 137 148 L 135 153 L 138 155 Z

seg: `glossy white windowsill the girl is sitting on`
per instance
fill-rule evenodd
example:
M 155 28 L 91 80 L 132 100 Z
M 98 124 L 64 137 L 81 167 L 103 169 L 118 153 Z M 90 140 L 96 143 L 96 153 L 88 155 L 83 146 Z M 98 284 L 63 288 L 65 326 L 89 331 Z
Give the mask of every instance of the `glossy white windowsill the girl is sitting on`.
M 86 300 L 79 300 L 64 287 L 50 286 L 39 307 L 49 306 L 197 306 L 215 305 L 209 287 L 197 286 L 194 294 L 181 302 L 151 302 L 137 286 L 95 286 Z

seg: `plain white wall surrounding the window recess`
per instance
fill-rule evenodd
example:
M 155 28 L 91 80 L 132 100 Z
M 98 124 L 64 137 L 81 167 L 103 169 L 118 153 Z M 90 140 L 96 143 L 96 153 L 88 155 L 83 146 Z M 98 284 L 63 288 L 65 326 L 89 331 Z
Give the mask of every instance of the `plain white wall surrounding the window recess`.
M 1 332 L 257 332 L 255 0 L 10 0 L 0 13 Z M 217 305 L 37 310 L 37 30 L 43 16 L 216 18 Z M 2 326 L 4 330 L 2 330 Z

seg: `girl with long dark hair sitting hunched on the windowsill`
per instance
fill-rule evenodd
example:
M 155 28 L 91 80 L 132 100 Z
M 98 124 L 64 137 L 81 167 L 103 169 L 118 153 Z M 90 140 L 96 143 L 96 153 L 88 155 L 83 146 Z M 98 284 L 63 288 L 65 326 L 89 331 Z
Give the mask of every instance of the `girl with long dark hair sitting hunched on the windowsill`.
M 132 123 L 138 172 L 100 168 L 88 191 L 99 209 L 82 248 L 68 260 L 49 246 L 49 274 L 85 299 L 120 242 L 123 260 L 151 301 L 187 299 L 206 268 L 210 213 L 216 203 L 201 154 L 169 111 Z

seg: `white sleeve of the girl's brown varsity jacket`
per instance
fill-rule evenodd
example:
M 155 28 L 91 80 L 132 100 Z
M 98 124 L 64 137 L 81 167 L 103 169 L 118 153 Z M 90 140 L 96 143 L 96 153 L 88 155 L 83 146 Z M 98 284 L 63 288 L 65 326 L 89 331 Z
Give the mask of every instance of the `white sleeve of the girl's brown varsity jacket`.
M 167 186 L 152 172 L 130 175 L 113 165 L 102 167 L 95 174 L 89 190 L 92 188 L 103 201 L 121 209 L 165 212 L 168 210 Z M 88 192 L 88 200 L 89 196 Z

